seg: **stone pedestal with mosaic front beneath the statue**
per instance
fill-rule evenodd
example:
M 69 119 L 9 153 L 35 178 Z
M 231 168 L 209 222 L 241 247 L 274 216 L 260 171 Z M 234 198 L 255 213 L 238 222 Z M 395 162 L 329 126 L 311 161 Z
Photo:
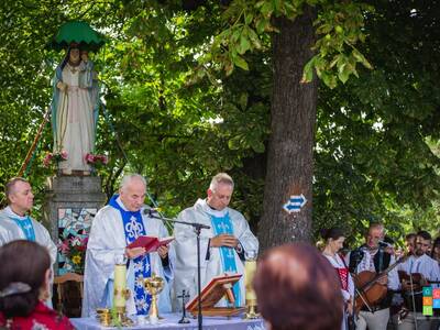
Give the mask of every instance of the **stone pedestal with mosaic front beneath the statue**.
M 72 243 L 75 238 L 79 242 L 88 237 L 91 222 L 97 211 L 103 206 L 107 197 L 101 189 L 101 178 L 97 176 L 54 176 L 46 183 L 46 198 L 43 207 L 43 218 L 50 229 L 55 244 Z M 75 248 L 76 249 L 76 248 Z M 55 274 L 68 272 L 81 273 L 81 260 L 58 252 L 55 263 Z

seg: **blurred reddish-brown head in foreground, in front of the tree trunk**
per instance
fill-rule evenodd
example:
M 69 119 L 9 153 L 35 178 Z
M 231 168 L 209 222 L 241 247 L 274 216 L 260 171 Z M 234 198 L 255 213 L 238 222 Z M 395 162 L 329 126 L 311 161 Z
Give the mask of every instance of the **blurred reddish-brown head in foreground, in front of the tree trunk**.
M 293 243 L 271 249 L 258 261 L 253 284 L 270 329 L 340 329 L 340 280 L 316 248 Z

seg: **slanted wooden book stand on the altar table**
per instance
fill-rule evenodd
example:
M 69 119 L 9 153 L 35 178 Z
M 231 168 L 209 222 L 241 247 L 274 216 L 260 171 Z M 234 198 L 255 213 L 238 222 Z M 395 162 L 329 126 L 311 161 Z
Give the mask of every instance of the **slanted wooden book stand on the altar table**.
M 212 277 L 211 282 L 209 282 L 200 293 L 201 314 L 204 316 L 229 317 L 244 311 L 245 307 L 215 307 L 223 297 L 226 297 L 231 305 L 235 302 L 232 286 L 240 279 L 240 274 Z M 198 306 L 198 299 L 196 296 L 186 305 L 186 310 L 188 310 L 193 316 L 197 316 Z

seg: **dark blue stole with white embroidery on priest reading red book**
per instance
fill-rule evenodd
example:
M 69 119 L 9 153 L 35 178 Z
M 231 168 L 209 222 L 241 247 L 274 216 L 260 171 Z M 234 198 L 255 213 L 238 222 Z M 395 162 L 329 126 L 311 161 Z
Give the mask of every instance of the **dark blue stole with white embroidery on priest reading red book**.
M 141 235 L 146 234 L 142 221 L 141 211 L 125 211 L 117 201 L 119 195 L 114 195 L 109 205 L 121 212 L 123 228 L 125 232 L 125 242 L 130 244 Z M 151 295 L 144 289 L 143 279 L 151 277 L 150 254 L 141 255 L 132 260 L 134 264 L 134 304 L 138 315 L 147 315 L 151 305 Z

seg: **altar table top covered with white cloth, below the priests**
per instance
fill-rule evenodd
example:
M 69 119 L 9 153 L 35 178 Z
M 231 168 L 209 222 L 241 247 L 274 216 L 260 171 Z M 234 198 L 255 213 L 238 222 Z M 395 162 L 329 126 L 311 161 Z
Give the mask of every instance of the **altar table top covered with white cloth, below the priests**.
M 197 319 L 190 318 L 190 323 L 179 324 L 180 314 L 164 314 L 158 324 L 142 324 L 123 329 L 179 329 L 197 330 Z M 95 318 L 73 318 L 70 322 L 78 330 L 117 329 L 102 327 Z M 239 317 L 204 317 L 204 329 L 211 330 L 265 330 L 263 319 L 244 320 Z

